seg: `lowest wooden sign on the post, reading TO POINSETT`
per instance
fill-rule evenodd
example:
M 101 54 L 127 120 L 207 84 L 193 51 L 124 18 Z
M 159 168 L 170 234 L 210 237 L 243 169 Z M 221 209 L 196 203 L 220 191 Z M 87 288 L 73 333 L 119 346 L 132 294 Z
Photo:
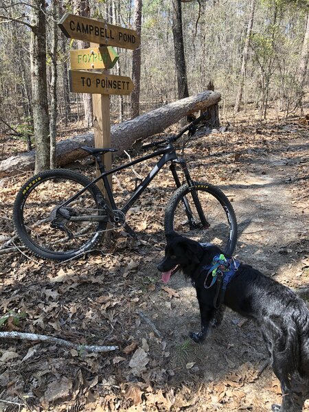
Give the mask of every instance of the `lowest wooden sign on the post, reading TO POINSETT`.
M 132 80 L 124 76 L 76 70 L 70 70 L 69 76 L 73 93 L 129 95 L 134 87 Z

